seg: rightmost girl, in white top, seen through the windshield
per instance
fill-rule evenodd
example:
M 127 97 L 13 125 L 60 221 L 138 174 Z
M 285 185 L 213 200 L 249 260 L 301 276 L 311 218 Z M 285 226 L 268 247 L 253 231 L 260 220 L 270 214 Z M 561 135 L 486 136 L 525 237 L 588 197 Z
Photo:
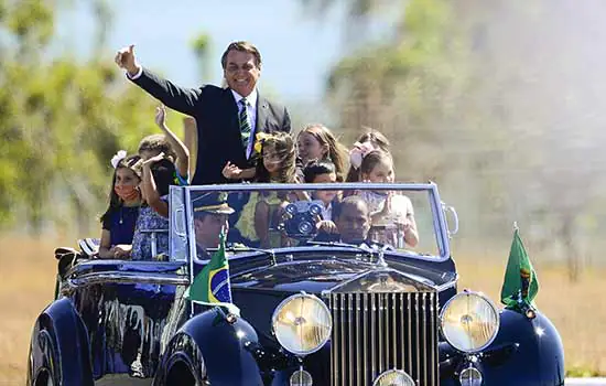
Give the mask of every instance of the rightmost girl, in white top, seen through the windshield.
M 393 182 L 393 160 L 382 150 L 364 156 L 359 168 L 359 181 L 371 183 Z M 374 230 L 382 230 L 379 242 L 397 246 L 397 237 L 403 236 L 411 247 L 419 243 L 414 211 L 409 197 L 392 192 L 362 191 L 360 196 L 370 210 Z M 382 237 L 381 237 L 382 236 Z

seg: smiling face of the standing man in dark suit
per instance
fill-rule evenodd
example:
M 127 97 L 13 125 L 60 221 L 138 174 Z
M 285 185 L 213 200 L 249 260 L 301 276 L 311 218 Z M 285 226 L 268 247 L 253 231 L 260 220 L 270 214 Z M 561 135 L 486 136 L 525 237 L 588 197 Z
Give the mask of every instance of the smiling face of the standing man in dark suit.
M 246 51 L 230 50 L 227 53 L 224 77 L 229 88 L 247 97 L 257 87 L 261 68 L 252 55 Z

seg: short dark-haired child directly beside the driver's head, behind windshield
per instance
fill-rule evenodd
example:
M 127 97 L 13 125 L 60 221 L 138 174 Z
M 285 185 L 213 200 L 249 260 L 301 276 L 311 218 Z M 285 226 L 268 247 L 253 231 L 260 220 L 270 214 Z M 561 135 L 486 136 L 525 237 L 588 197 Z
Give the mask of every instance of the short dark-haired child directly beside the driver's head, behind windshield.
M 304 181 L 306 183 L 334 183 L 336 182 L 335 165 L 331 161 L 313 160 L 303 169 Z M 312 199 L 322 202 L 322 218 L 316 224 L 318 229 L 327 233 L 336 229 L 333 222 L 333 203 L 338 201 L 337 191 L 313 191 Z

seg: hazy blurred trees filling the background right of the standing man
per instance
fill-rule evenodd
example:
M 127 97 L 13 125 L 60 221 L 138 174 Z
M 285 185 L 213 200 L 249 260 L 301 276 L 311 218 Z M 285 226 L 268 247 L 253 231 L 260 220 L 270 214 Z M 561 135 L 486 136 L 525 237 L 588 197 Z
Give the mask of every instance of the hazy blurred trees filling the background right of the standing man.
M 380 7 L 398 9 L 380 39 L 364 35 L 360 45 L 346 36 L 332 68 L 326 103 L 346 138 L 362 126 L 397 138 L 399 180 L 437 181 L 463 204 L 468 239 L 507 243 L 518 221 L 531 244 L 569 261 L 576 280 L 587 243 L 600 250 L 606 228 L 598 144 L 606 139 L 606 82 L 600 51 L 587 39 L 606 36 L 596 18 L 606 6 L 302 2 L 315 12 L 338 7 L 346 29 L 388 20 Z

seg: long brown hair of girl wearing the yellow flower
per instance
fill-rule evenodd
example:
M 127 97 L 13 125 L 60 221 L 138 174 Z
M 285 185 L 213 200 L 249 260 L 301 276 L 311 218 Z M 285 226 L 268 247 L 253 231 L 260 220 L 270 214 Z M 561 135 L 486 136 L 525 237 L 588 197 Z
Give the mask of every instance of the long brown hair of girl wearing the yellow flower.
M 280 157 L 281 164 L 279 181 L 274 182 L 294 183 L 296 150 L 292 137 L 288 132 L 278 131 L 263 136 L 260 141 L 261 157 L 257 160 L 256 181 L 271 182 L 269 171 L 263 164 L 263 154 L 272 149 Z

